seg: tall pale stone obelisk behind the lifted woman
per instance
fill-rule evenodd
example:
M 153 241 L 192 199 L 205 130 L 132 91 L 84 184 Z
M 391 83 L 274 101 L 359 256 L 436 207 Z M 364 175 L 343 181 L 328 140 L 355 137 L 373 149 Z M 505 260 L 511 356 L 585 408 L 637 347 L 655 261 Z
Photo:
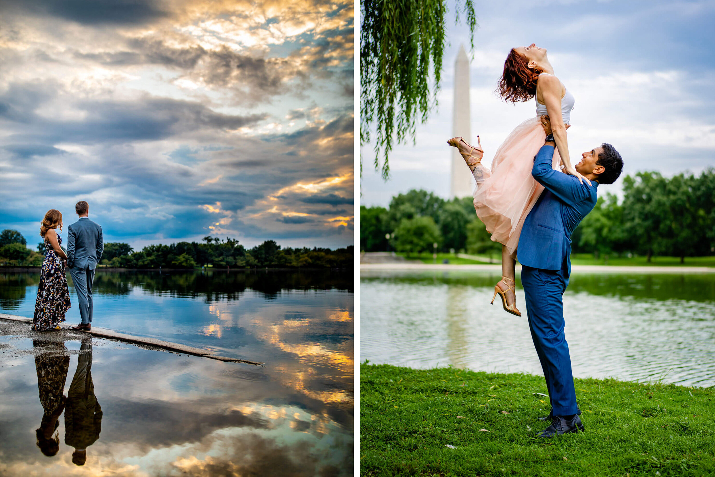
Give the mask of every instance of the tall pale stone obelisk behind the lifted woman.
M 454 62 L 454 102 L 452 112 L 452 136 L 462 136 L 471 144 L 471 119 L 469 114 L 469 59 L 464 45 L 460 45 Z M 472 195 L 474 179 L 458 148 L 452 148 L 452 179 L 450 197 Z

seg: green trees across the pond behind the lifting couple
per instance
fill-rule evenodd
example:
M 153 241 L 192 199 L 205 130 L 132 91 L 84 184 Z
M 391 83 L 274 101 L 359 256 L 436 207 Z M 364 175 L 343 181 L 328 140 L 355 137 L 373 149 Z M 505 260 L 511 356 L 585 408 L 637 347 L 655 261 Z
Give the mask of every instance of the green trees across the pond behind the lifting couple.
M 623 179 L 623 199 L 602 194 L 596 207 L 573 231 L 574 253 L 595 256 L 706 256 L 715 252 L 715 169 L 699 176 L 670 179 L 639 172 Z M 388 209 L 360 207 L 360 250 L 420 253 L 486 253 L 501 245 L 490 241 L 472 199 L 441 199 L 423 190 L 394 196 Z

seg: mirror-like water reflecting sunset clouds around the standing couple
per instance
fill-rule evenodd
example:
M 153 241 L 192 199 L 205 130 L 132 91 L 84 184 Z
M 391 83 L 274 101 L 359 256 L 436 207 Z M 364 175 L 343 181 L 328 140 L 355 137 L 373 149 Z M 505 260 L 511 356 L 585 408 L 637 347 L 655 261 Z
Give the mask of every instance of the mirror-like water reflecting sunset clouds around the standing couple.
M 37 273 L 0 273 L 0 311 L 31 317 L 38 280 Z M 99 425 L 96 408 L 87 418 L 101 428 L 87 447 L 88 474 L 352 475 L 352 286 L 352 273 L 331 271 L 97 273 L 94 326 L 265 365 L 98 338 L 82 343 L 76 333 L 4 324 L 0 475 L 77 475 L 81 420 L 67 421 L 66 410 L 77 409 L 73 383 L 89 383 L 89 361 L 89 401 L 102 412 Z M 74 324 L 70 288 L 66 318 Z M 59 450 L 46 457 L 36 429 L 52 386 L 68 404 L 56 419 Z

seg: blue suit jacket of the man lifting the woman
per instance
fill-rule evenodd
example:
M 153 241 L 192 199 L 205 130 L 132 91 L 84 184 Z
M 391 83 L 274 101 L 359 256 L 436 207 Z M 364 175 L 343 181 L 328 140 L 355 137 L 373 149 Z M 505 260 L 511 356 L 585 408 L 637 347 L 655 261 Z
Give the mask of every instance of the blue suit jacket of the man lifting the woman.
M 522 265 L 561 270 L 571 276 L 571 232 L 596 206 L 598 182 L 588 186 L 576 176 L 551 169 L 553 146 L 542 146 L 531 170 L 544 191 L 526 216 L 519 236 L 516 258 Z

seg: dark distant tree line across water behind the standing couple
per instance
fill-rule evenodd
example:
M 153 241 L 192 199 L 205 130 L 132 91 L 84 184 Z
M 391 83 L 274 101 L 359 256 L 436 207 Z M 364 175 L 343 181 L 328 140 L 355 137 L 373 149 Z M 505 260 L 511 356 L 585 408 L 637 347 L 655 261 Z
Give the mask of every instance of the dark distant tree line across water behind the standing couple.
M 104 243 L 100 265 L 120 268 L 352 268 L 353 246 L 346 248 L 281 248 L 267 240 L 246 249 L 235 239 L 206 236 L 204 243 L 179 242 L 171 245 L 147 245 L 134 251 L 128 243 Z M 16 266 L 40 266 L 44 243 L 37 251 L 26 246 L 18 232 L 0 233 L 0 263 Z

